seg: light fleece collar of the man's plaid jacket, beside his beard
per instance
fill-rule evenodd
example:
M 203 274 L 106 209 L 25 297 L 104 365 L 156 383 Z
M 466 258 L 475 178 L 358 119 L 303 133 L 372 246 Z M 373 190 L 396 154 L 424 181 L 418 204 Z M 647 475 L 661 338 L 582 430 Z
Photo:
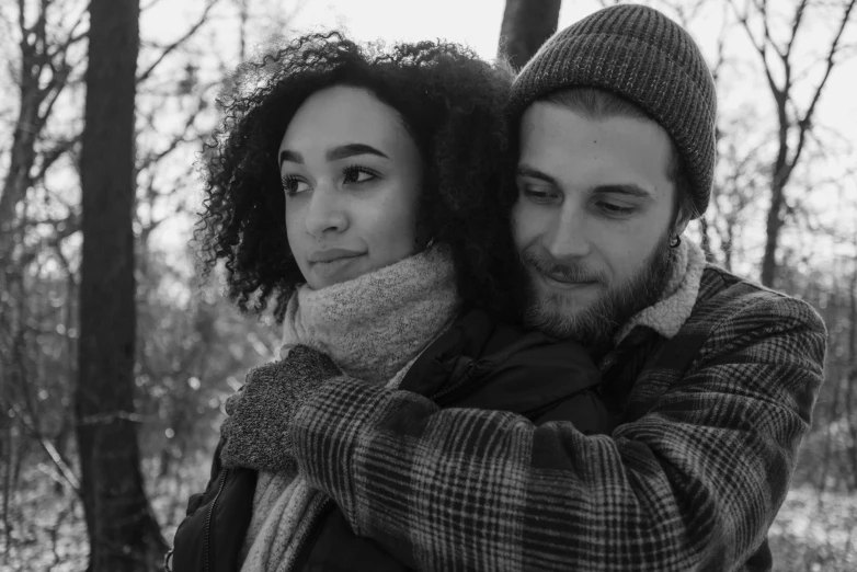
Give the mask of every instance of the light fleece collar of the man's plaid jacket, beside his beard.
M 690 317 L 699 294 L 706 256 L 698 244 L 687 239 L 682 240 L 674 255 L 676 261 L 673 275 L 664 288 L 665 297 L 635 314 L 616 334 L 616 345 L 637 325 L 647 325 L 669 340 Z

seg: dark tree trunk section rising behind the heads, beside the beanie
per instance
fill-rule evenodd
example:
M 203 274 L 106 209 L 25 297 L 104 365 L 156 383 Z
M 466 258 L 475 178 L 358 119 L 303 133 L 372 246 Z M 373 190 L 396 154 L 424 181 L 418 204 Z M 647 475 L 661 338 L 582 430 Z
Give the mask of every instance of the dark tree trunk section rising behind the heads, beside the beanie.
M 562 0 L 506 0 L 498 53 L 521 69 L 556 32 Z

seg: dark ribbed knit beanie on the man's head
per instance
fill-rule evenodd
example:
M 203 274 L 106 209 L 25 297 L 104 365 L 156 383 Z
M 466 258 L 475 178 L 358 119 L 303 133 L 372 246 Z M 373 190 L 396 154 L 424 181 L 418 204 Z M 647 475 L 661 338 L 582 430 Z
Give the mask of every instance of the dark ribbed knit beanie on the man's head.
M 715 171 L 717 93 L 690 35 L 661 12 L 637 4 L 605 8 L 553 34 L 512 88 L 518 115 L 550 92 L 598 88 L 635 103 L 678 149 L 705 213 Z

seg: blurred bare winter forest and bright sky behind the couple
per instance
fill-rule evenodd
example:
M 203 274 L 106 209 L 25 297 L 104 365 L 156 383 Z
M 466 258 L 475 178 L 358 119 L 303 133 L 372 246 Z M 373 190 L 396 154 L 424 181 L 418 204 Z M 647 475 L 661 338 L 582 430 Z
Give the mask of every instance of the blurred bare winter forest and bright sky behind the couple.
M 0 570 L 158 569 L 225 398 L 278 338 L 195 270 L 194 163 L 227 73 L 323 1 L 0 1 Z M 609 3 L 467 9 L 519 66 L 569 4 Z M 692 232 L 830 330 L 775 569 L 857 570 L 855 0 L 645 3 L 699 38 L 718 82 L 715 198 Z

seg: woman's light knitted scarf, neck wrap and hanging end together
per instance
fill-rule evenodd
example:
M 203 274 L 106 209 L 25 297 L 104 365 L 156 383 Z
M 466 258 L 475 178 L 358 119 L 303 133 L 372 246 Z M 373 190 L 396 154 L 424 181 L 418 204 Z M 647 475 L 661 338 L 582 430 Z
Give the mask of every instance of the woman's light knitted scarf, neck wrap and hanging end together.
M 351 377 L 398 387 L 458 308 L 452 260 L 435 247 L 353 281 L 300 287 L 286 310 L 281 357 L 309 345 Z M 241 571 L 289 570 L 322 500 L 299 474 L 260 471 Z

